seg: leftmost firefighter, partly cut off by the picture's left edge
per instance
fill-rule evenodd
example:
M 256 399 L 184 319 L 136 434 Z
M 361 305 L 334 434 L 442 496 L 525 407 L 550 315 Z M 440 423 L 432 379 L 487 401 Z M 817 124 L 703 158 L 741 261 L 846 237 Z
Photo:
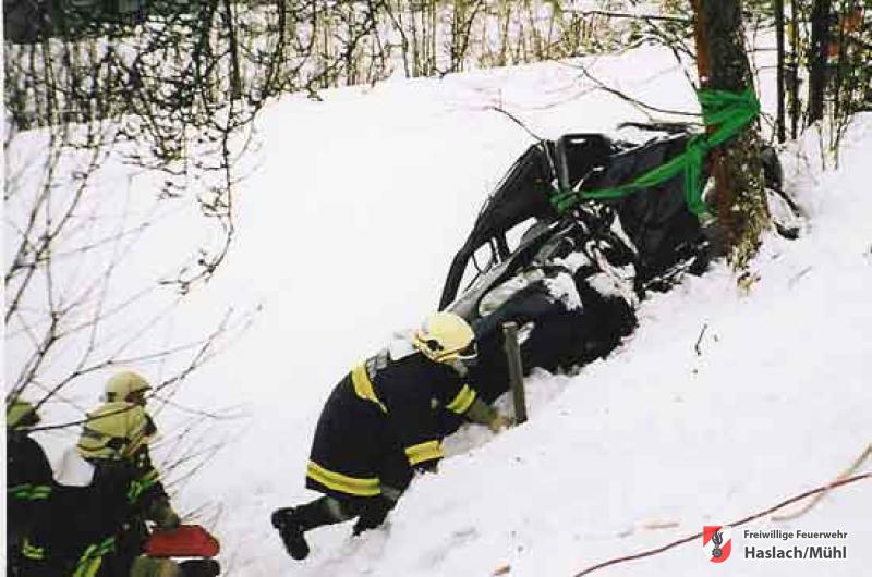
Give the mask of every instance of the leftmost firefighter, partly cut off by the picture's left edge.
M 39 422 L 34 406 L 23 400 L 7 405 L 7 574 L 20 575 L 22 551 L 39 555 L 28 539 L 34 520 L 44 515 L 55 488 L 51 465 L 31 438 Z

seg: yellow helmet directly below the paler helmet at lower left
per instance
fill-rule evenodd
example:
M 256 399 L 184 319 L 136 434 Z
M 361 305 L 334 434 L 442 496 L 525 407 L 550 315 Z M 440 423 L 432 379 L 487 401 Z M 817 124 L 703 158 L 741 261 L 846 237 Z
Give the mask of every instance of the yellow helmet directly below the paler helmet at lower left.
M 105 403 L 88 414 L 76 450 L 85 458 L 120 459 L 136 453 L 155 432 L 140 405 L 123 401 Z

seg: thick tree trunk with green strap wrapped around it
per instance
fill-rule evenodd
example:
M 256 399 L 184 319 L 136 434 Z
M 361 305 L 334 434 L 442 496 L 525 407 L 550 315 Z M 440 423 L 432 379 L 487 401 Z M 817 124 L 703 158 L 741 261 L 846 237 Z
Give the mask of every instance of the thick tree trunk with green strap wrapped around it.
M 753 86 L 740 0 L 693 0 L 697 60 L 703 88 L 741 93 Z M 711 130 L 711 127 L 710 127 Z M 746 272 L 770 217 L 755 122 L 713 152 L 715 213 L 732 268 Z

